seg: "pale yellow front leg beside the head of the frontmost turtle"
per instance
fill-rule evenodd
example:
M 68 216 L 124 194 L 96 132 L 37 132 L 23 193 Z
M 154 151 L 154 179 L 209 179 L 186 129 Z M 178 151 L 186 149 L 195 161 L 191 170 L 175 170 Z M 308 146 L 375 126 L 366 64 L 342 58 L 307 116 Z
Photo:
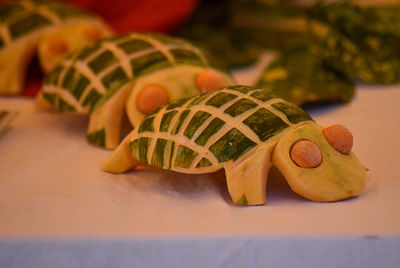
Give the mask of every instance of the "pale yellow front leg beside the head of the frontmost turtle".
M 271 168 L 272 146 L 256 149 L 244 161 L 224 166 L 226 182 L 236 205 L 262 205 L 267 201 L 266 187 Z

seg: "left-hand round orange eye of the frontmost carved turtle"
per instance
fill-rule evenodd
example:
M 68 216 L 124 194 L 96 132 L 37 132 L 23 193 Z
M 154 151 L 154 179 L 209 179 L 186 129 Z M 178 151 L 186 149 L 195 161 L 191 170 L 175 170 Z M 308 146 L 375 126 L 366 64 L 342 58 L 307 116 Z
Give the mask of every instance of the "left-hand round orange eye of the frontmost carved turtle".
M 322 153 L 312 141 L 298 140 L 290 148 L 290 158 L 299 167 L 315 168 L 322 162 Z

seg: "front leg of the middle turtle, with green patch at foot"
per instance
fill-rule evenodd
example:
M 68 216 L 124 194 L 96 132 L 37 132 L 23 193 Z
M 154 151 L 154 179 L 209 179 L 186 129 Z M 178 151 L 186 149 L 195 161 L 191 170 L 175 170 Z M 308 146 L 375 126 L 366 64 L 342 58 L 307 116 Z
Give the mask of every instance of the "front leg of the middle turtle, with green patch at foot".
M 126 84 L 90 115 L 87 139 L 89 143 L 114 149 L 120 142 L 121 121 L 125 102 L 132 85 Z M 100 101 L 102 101 L 100 99 Z

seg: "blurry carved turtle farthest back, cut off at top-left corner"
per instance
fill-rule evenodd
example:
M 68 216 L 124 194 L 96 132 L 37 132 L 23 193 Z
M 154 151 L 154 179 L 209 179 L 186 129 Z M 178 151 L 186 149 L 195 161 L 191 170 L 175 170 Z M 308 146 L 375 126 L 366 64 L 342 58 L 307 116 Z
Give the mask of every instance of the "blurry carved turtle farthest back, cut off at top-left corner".
M 22 91 L 27 66 L 38 51 L 49 72 L 74 49 L 111 35 L 98 17 L 51 0 L 0 4 L 0 95 Z

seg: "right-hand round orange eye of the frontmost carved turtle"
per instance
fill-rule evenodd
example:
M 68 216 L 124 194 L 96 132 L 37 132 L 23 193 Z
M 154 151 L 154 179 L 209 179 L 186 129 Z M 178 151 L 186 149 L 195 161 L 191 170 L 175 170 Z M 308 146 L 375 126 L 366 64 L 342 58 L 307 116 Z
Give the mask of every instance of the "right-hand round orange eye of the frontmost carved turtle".
M 328 143 L 342 154 L 349 154 L 353 147 L 353 134 L 346 127 L 335 124 L 325 128 L 322 133 Z

